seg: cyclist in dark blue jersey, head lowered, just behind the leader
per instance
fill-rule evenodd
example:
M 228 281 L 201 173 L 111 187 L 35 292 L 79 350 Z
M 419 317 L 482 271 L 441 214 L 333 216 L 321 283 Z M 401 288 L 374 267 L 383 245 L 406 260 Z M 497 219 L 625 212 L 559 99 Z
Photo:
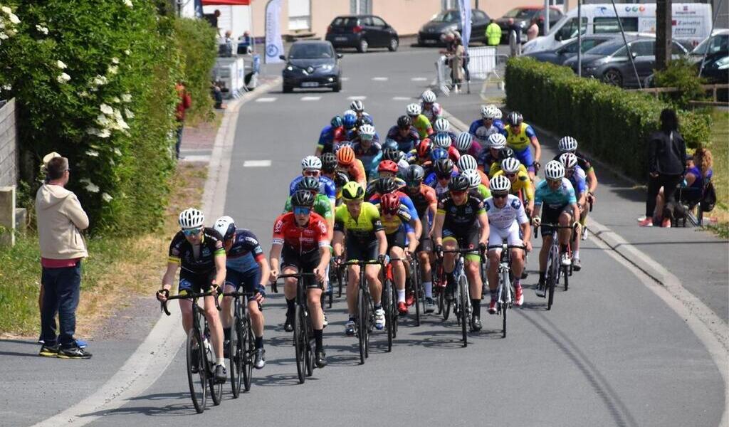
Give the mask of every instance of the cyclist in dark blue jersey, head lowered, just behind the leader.
M 329 199 L 324 197 L 324 203 L 328 206 Z M 263 349 L 263 313 L 260 306 L 266 297 L 265 279 L 268 278 L 268 260 L 263 254 L 263 249 L 258 238 L 250 230 L 236 228 L 233 218 L 221 216 L 214 225 L 214 230 L 223 236 L 225 247 L 225 292 L 243 291 L 248 296 L 248 312 L 251 316 L 253 334 L 255 337 L 256 354 L 253 366 L 262 369 L 266 364 L 266 350 Z M 223 353 L 227 353 L 227 344 L 230 340 L 230 326 L 233 323 L 233 316 L 230 309 L 233 297 L 224 297 L 221 307 L 221 321 L 223 325 L 223 336 L 225 344 Z M 225 357 L 230 357 L 225 354 Z

